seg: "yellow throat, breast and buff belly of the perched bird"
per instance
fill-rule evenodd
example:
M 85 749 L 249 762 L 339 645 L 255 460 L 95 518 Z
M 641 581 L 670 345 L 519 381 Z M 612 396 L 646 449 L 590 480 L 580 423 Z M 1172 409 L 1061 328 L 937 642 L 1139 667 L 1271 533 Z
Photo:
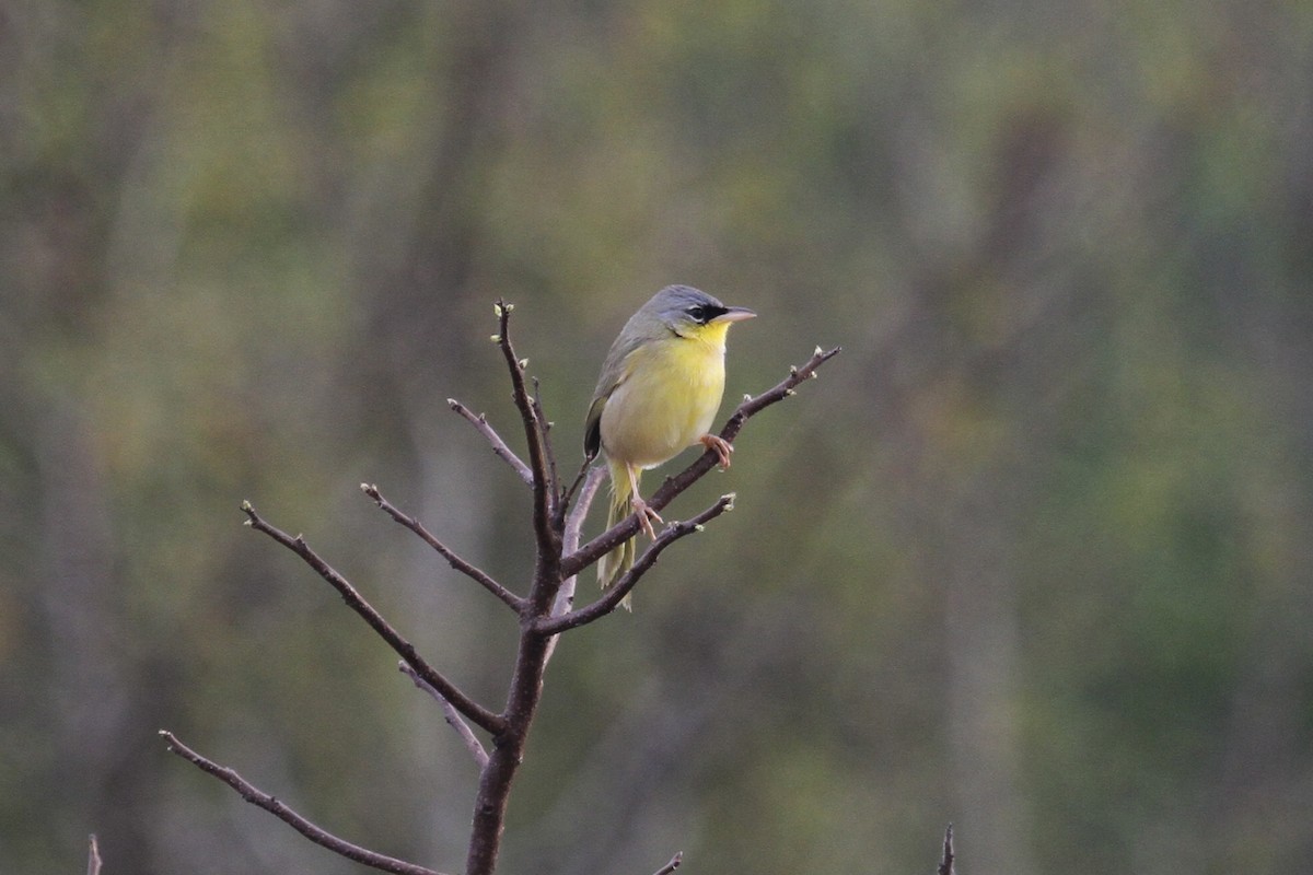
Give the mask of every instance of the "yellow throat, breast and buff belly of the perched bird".
M 646 344 L 601 412 L 601 445 L 612 459 L 651 468 L 712 428 L 725 391 L 725 328 Z

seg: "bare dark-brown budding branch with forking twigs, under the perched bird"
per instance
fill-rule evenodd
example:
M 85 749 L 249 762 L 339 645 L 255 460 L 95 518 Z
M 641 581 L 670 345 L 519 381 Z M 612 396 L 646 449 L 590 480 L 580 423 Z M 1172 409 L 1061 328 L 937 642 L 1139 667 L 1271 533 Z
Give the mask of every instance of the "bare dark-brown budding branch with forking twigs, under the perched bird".
M 575 609 L 578 575 L 612 548 L 634 537 L 639 527 L 639 519 L 635 514 L 630 516 L 579 546 L 583 521 L 601 483 L 604 470 L 600 466 L 590 467 L 586 462 L 569 487 L 562 484 L 549 437 L 551 422 L 542 409 L 538 382 L 527 376 L 528 359 L 516 354 L 511 341 L 511 312 L 513 310 L 515 307 L 506 300 L 496 302 L 494 312 L 498 319 L 498 332 L 491 336 L 491 341 L 500 349 L 509 374 L 512 400 L 520 415 L 524 432 L 527 460 L 502 439 L 484 415 L 471 412 L 470 408 L 454 399 L 448 399 L 448 405 L 483 436 L 492 453 L 503 459 L 532 491 L 536 559 L 528 593 L 517 594 L 487 572 L 462 559 L 431 534 L 419 519 L 387 501 L 377 485 L 361 484 L 361 491 L 394 522 L 415 533 L 453 569 L 473 580 L 516 614 L 520 640 L 506 702 L 500 710 L 494 711 L 477 702 L 445 674 L 429 665 L 415 647 L 369 605 L 345 577 L 306 543 L 302 535 L 289 535 L 265 521 L 249 501 L 242 504 L 242 512 L 247 517 L 246 525 L 299 556 L 400 657 L 398 668 L 418 687 L 437 701 L 446 722 L 460 735 L 478 765 L 479 784 L 474 802 L 465 875 L 491 875 L 496 866 L 511 782 L 523 761 L 529 727 L 542 694 L 544 672 L 559 636 L 614 611 L 621 600 L 633 592 L 666 548 L 689 534 L 702 531 L 706 523 L 734 508 L 734 493 L 729 493 L 689 519 L 668 523 L 637 559 L 633 568 L 625 572 L 613 586 L 588 605 Z M 802 382 L 813 379 L 817 369 L 839 352 L 839 348 L 829 352 L 817 348 L 806 363 L 790 367 L 789 375 L 777 386 L 756 397 L 744 396 L 743 403 L 730 415 L 725 428 L 721 429 L 720 438 L 731 442 L 748 418 L 771 404 L 792 396 Z M 647 504 L 654 510 L 663 509 L 706 475 L 716 463 L 716 453 L 708 449 L 684 471 L 668 478 L 649 499 Z M 486 733 L 491 745 L 484 745 L 478 732 Z M 218 778 L 251 804 L 273 813 L 297 832 L 334 853 L 386 872 L 441 875 L 435 870 L 378 854 L 337 838 L 302 817 L 285 803 L 252 786 L 232 769 L 196 753 L 171 732 L 161 731 L 160 735 L 164 737 L 168 750 Z M 676 854 L 664 867 L 658 870 L 656 875 L 674 872 L 680 862 L 681 854 Z

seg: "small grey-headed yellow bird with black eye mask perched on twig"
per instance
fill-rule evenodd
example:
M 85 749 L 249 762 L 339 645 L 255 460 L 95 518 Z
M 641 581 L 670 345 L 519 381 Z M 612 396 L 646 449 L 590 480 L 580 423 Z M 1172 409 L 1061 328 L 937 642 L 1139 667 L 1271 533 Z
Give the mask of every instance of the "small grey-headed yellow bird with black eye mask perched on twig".
M 647 468 L 701 443 L 730 467 L 734 447 L 708 429 L 725 391 L 725 336 L 756 314 L 726 307 L 692 286 L 666 286 L 638 308 L 611 345 L 584 421 L 584 458 L 607 457 L 611 506 L 607 527 L 638 514 L 649 538 L 664 522 L 638 492 Z M 597 563 L 603 589 L 634 564 L 635 538 Z M 630 609 L 626 594 L 621 605 Z

